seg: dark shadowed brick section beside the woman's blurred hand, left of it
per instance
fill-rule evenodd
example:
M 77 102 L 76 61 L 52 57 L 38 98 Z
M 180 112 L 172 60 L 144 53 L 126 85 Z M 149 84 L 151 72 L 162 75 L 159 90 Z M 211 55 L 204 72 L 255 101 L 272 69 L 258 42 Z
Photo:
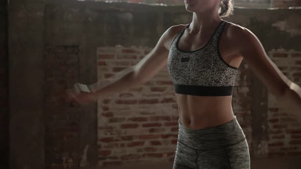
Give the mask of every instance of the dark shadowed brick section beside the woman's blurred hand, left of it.
M 78 168 L 80 109 L 65 100 L 79 78 L 78 46 L 45 46 L 45 168 Z

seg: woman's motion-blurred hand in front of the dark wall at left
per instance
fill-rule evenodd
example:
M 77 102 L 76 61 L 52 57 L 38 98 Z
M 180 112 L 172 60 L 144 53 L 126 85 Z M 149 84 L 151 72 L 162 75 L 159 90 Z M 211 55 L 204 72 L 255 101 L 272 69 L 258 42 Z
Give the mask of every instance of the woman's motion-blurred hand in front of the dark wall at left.
M 74 85 L 74 88 L 66 90 L 68 101 L 74 100 L 80 105 L 87 105 L 89 102 L 97 100 L 95 93 L 84 92 L 82 90 L 79 90 L 79 88 L 77 88 L 76 86 L 77 85 Z

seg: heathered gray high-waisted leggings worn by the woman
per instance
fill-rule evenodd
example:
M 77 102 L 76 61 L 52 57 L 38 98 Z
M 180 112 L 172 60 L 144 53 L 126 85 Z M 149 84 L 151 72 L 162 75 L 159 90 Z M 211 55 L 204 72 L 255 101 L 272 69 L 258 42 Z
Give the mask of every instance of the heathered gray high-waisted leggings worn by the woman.
M 204 129 L 185 128 L 179 120 L 173 169 L 184 168 L 249 169 L 249 148 L 236 116 L 228 123 Z

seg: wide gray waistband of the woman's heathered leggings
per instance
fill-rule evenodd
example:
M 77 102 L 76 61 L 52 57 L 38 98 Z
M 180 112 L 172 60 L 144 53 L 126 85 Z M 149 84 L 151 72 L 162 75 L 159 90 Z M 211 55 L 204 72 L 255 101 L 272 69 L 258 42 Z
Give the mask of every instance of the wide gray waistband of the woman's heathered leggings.
M 194 149 L 214 149 L 237 144 L 245 139 L 245 134 L 236 116 L 225 124 L 204 129 L 186 128 L 179 121 L 178 142 Z

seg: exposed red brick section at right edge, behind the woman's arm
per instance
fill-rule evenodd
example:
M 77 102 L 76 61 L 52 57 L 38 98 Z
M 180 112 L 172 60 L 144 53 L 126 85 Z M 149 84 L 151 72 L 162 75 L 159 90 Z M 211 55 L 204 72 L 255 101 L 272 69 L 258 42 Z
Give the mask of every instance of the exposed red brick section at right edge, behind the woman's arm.
M 301 85 L 301 52 L 272 50 L 271 60 L 290 80 Z M 301 122 L 279 108 L 277 100 L 268 94 L 269 156 L 301 155 Z

